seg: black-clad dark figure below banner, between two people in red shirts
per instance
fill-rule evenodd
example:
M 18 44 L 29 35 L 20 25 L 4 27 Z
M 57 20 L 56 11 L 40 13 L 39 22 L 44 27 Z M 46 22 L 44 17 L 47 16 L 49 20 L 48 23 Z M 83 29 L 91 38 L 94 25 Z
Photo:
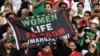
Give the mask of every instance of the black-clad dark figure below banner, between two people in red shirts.
M 61 38 L 56 40 L 56 47 L 53 50 L 54 56 L 69 56 L 71 50 L 64 45 L 64 41 Z

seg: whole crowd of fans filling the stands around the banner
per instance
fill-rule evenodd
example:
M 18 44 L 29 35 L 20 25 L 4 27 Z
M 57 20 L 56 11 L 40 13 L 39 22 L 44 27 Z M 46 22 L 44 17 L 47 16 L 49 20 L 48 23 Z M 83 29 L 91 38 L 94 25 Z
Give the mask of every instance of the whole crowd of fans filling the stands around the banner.
M 54 13 L 66 9 L 74 36 L 58 38 L 51 48 L 45 42 L 40 48 L 29 48 L 16 38 L 8 19 Z M 100 56 L 100 0 L 0 0 L 0 56 Z

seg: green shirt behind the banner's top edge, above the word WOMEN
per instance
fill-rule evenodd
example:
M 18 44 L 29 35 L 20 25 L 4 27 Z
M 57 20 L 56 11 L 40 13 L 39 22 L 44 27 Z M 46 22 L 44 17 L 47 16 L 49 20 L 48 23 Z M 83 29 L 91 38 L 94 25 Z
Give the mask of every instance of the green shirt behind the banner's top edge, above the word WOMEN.
M 32 1 L 37 2 L 37 0 L 32 0 Z M 33 8 L 33 15 L 36 16 L 39 14 L 43 14 L 44 11 L 45 11 L 44 10 L 44 3 L 41 3 L 39 6 Z

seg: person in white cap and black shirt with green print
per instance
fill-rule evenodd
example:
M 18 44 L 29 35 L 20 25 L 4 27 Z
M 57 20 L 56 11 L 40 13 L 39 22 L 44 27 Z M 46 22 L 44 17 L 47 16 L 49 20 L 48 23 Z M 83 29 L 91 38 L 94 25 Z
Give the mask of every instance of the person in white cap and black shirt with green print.
M 99 30 L 97 30 L 97 26 L 99 25 L 98 19 L 94 18 L 91 20 L 90 27 L 85 27 L 83 31 L 78 34 L 80 37 L 80 46 L 82 48 L 82 55 L 84 56 L 87 53 L 88 46 L 91 43 L 97 43 L 99 40 Z

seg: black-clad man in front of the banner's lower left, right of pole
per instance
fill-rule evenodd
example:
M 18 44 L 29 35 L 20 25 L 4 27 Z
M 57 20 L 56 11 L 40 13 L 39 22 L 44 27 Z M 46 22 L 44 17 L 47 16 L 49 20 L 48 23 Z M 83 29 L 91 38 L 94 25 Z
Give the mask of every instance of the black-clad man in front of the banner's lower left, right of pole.
M 21 49 L 19 50 L 20 56 L 36 56 L 33 48 L 29 48 L 27 40 L 21 40 Z

